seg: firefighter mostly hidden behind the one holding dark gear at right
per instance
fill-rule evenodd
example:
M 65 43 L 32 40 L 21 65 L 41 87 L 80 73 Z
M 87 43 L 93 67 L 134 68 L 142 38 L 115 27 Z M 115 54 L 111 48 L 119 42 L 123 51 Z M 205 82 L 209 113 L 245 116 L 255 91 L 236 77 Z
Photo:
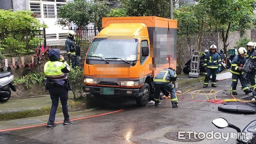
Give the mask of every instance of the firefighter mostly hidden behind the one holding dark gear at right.
M 246 59 L 249 59 L 251 54 L 254 52 L 254 43 L 250 41 L 246 44 L 246 46 L 247 46 Z M 254 89 L 256 87 L 255 74 L 253 72 L 247 72 L 246 79 L 248 83 L 249 82 L 251 83 L 250 89 Z

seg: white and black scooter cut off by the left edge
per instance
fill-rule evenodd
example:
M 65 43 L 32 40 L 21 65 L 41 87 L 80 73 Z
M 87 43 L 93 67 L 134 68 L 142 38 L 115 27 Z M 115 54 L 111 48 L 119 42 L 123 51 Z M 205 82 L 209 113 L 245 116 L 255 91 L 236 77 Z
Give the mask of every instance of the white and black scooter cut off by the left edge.
M 11 90 L 16 91 L 12 85 L 14 75 L 11 72 L 0 72 L 0 102 L 6 102 L 11 97 Z

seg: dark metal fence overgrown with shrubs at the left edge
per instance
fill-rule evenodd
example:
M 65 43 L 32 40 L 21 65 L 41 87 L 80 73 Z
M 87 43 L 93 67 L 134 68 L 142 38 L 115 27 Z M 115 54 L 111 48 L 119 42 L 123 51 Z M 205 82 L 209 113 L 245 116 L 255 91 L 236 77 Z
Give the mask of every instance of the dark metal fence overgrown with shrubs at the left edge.
M 45 29 L 0 33 L 0 55 L 34 52 L 35 48 L 41 47 L 42 44 L 46 45 Z

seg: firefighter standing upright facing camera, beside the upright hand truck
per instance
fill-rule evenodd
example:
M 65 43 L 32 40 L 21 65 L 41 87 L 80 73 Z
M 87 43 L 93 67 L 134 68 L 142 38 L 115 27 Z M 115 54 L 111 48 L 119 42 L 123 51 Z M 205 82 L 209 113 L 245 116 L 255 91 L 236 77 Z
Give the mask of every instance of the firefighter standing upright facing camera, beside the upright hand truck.
M 208 86 L 210 76 L 212 75 L 212 87 L 216 86 L 216 74 L 218 73 L 218 69 L 221 68 L 221 57 L 216 52 L 217 46 L 211 45 L 210 52 L 204 58 L 204 68 L 206 70 L 206 75 L 204 78 L 204 88 Z

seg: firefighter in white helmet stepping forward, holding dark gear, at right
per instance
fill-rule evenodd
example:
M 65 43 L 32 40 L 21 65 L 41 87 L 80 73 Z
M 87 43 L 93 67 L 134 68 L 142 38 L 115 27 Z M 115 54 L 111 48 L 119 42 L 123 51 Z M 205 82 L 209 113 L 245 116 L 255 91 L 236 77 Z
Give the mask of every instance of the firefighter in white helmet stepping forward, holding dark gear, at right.
M 236 86 L 239 79 L 242 85 L 242 89 L 247 95 L 248 93 L 253 92 L 253 90 L 249 89 L 246 78 L 244 77 L 244 72 L 242 70 L 242 67 L 244 66 L 244 63 L 246 61 L 245 55 L 247 53 L 247 50 L 244 47 L 240 47 L 238 49 L 238 52 L 239 55 L 236 55 L 236 57 L 232 60 L 231 63 L 230 72 L 232 73 L 232 84 L 230 91 L 233 95 L 237 95 Z

